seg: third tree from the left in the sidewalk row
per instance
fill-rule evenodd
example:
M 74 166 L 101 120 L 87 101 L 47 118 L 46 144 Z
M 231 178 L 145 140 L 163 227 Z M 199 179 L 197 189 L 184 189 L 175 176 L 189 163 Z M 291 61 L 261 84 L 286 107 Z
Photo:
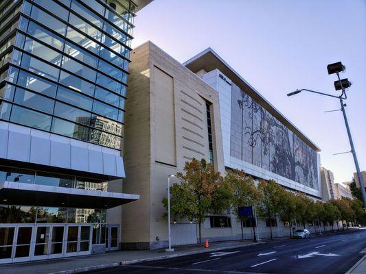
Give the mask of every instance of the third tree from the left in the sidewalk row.
M 262 196 L 262 199 L 258 204 L 258 214 L 262 219 L 268 219 L 271 232 L 270 235 L 271 239 L 273 239 L 272 219 L 275 219 L 277 214 L 279 214 L 281 206 L 279 194 L 282 193 L 283 188 L 279 184 L 276 184 L 274 180 L 269 180 L 268 182 L 260 180 L 258 190 Z

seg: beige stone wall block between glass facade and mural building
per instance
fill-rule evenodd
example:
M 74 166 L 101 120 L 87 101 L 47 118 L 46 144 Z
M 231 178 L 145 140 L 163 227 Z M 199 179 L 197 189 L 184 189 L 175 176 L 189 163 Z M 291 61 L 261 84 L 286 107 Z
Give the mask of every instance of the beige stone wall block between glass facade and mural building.
M 209 161 L 206 101 L 214 123 L 214 165 L 225 172 L 218 93 L 152 42 L 130 58 L 123 190 L 141 199 L 123 206 L 121 240 L 128 243 L 122 247 L 157 248 L 168 240 L 161 203 L 168 176 L 192 158 Z

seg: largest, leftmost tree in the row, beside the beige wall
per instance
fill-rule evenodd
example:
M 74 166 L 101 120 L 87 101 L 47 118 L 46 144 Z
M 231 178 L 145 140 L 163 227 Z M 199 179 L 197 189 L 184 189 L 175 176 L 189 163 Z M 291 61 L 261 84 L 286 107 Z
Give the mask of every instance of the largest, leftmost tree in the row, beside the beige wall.
M 177 173 L 181 184 L 170 187 L 172 216 L 189 219 L 198 224 L 199 243 L 202 244 L 201 225 L 207 213 L 222 213 L 230 208 L 230 189 L 214 166 L 206 160 L 186 162 L 184 173 Z M 168 199 L 163 198 L 168 208 Z

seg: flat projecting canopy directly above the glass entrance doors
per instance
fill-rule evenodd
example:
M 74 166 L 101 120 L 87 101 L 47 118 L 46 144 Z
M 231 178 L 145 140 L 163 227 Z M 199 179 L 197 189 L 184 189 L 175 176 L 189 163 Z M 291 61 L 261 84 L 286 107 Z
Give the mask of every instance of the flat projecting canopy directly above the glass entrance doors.
M 0 203 L 19 206 L 108 209 L 138 199 L 139 195 L 119 192 L 0 182 Z

